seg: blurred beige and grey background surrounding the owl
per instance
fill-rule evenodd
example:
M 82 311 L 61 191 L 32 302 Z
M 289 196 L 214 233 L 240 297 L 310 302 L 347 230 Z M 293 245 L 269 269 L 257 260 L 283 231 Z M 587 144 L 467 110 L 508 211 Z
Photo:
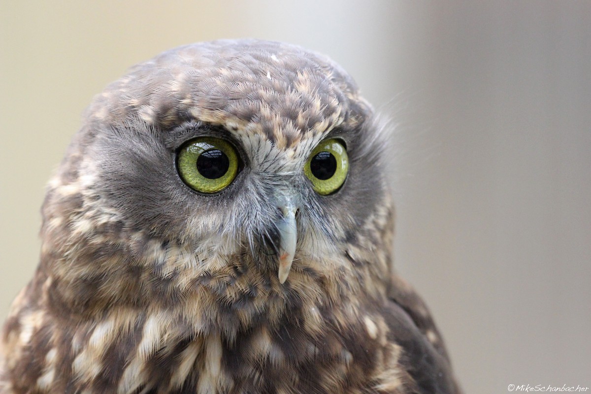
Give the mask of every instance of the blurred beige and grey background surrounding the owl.
M 215 38 L 329 54 L 397 127 L 397 266 L 467 393 L 591 388 L 591 2 L 1 2 L 0 318 L 96 93 Z

